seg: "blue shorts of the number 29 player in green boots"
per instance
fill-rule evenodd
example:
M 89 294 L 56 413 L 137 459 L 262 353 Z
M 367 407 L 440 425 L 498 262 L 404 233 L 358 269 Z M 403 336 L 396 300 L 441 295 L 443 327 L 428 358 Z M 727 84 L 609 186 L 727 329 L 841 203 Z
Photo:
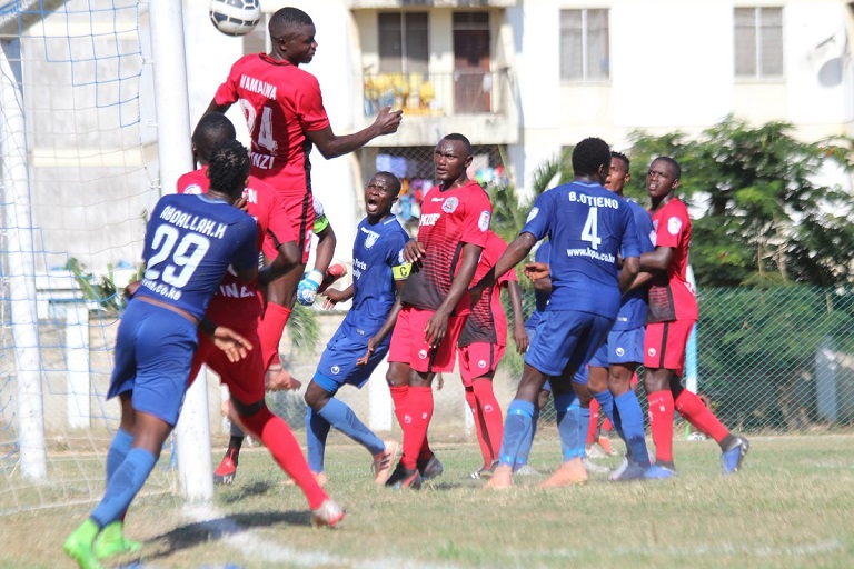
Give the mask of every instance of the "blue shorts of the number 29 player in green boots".
M 131 301 L 116 336 L 116 367 L 107 398 L 132 391 L 136 411 L 175 426 L 187 393 L 197 333 L 197 326 L 177 312 Z

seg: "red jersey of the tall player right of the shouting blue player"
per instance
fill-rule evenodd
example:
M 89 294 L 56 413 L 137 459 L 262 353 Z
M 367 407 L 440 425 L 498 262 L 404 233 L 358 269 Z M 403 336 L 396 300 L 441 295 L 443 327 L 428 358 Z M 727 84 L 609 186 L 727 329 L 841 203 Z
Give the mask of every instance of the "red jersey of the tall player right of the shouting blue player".
M 437 310 L 459 271 L 463 246 L 486 247 L 493 204 L 480 186 L 468 183 L 449 190 L 436 186 L 421 201 L 418 242 L 426 253 L 423 264 L 409 274 L 401 301 L 425 310 Z M 457 303 L 454 315 L 470 312 L 468 292 Z

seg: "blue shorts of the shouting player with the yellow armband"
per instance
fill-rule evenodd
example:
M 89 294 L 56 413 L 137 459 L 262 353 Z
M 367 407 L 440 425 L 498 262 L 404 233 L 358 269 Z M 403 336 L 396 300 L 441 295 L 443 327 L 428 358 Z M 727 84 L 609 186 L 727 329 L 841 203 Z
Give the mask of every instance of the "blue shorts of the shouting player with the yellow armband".
M 314 381 L 329 393 L 335 393 L 345 383 L 361 388 L 388 353 L 390 339 L 386 337 L 370 355 L 368 362 L 357 366 L 356 360 L 367 353 L 371 337 L 361 336 L 350 328 L 338 328 L 320 357 Z

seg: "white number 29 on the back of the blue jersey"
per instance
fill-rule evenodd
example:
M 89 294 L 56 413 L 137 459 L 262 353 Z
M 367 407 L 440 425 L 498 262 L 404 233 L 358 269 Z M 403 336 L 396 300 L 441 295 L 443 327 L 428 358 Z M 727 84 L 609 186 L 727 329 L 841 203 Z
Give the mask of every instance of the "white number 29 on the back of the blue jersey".
M 180 289 L 196 272 L 210 249 L 210 241 L 198 233 L 187 233 L 181 238 L 181 233 L 172 226 L 159 226 L 151 240 L 151 249 L 155 254 L 148 260 L 146 279 L 161 279 Z

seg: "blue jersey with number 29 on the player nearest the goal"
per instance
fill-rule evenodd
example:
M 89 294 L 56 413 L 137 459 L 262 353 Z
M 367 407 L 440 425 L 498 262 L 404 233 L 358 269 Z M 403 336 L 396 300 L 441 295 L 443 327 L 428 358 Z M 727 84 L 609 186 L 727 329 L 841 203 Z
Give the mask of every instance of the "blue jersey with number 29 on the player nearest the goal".
M 163 196 L 146 228 L 146 272 L 137 295 L 186 310 L 199 320 L 229 266 L 258 264 L 255 219 L 207 196 Z

